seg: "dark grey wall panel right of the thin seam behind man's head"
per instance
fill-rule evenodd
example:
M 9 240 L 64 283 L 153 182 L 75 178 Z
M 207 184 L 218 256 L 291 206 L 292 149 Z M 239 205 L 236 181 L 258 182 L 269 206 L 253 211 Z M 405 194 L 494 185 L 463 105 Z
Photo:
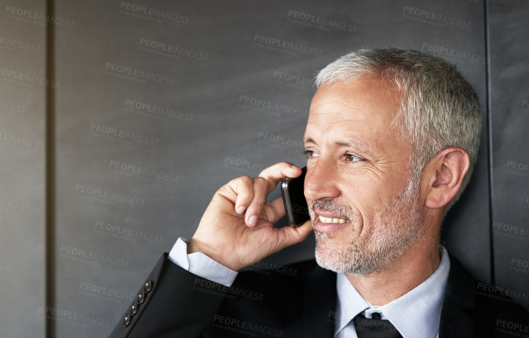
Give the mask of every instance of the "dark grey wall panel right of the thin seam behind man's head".
M 490 3 L 492 243 L 496 284 L 529 286 L 529 2 Z

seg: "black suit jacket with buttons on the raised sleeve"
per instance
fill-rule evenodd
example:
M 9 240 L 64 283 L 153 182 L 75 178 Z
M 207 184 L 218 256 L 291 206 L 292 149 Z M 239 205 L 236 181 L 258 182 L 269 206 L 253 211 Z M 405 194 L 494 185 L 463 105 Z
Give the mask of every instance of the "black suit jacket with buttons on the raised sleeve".
M 149 275 L 152 290 L 130 325 L 122 324 L 125 314 L 109 338 L 333 337 L 339 318 L 336 274 L 314 259 L 241 272 L 228 288 L 189 273 L 167 256 Z M 478 284 L 449 257 L 439 338 L 529 336 L 529 314 L 522 306 Z

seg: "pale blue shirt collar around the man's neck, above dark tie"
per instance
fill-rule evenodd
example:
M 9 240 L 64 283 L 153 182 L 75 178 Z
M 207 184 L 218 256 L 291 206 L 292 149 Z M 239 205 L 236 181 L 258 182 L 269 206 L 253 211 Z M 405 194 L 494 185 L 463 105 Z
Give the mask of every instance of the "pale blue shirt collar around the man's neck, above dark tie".
M 371 305 L 358 293 L 344 273 L 338 274 L 335 333 L 343 330 L 356 315 L 365 310 L 368 318 L 372 312 L 381 313 L 381 318 L 389 320 L 404 338 L 435 337 L 439 331 L 450 272 L 448 251 L 443 247 L 441 252 L 439 266 L 430 277 L 405 295 L 382 306 Z

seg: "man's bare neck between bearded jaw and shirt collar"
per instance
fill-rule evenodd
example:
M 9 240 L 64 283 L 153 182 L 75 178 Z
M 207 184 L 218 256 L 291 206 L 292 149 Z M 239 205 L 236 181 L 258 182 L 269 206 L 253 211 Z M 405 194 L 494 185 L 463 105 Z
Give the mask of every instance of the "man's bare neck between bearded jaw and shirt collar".
M 367 277 L 346 274 L 360 295 L 372 305 L 385 305 L 423 283 L 440 263 L 440 248 L 419 240 L 390 267 Z

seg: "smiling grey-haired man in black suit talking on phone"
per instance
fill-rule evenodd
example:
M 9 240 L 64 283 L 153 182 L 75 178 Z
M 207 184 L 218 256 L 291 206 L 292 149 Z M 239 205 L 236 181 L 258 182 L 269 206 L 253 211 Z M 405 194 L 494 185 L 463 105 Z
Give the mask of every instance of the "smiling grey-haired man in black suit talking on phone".
M 529 333 L 521 306 L 437 245 L 477 160 L 470 84 L 442 59 L 398 49 L 347 54 L 316 82 L 304 136 L 311 220 L 273 228 L 285 211 L 266 196 L 300 175 L 294 165 L 230 181 L 193 238 L 162 256 L 111 337 Z M 238 274 L 313 229 L 315 261 Z

